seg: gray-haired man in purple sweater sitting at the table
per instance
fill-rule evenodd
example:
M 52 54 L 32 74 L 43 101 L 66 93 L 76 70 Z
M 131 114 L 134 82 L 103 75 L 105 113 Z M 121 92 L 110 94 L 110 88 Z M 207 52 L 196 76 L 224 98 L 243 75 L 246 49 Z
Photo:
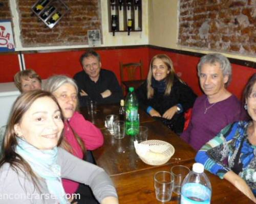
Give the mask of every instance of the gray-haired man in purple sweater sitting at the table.
M 225 56 L 208 54 L 200 59 L 198 77 L 204 95 L 196 99 L 191 121 L 181 135 L 195 150 L 229 123 L 246 118 L 238 98 L 226 89 L 231 75 L 231 65 Z

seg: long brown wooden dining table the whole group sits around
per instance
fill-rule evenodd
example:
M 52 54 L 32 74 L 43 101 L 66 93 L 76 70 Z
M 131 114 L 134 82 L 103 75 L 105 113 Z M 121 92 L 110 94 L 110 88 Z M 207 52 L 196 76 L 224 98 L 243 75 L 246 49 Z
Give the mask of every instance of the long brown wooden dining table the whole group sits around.
M 121 140 L 114 139 L 104 127 L 106 115 L 118 114 L 119 105 L 99 106 L 93 118 L 86 109 L 81 113 L 101 128 L 104 134 L 104 145 L 93 151 L 98 166 L 105 169 L 111 176 L 119 196 L 120 204 L 153 204 L 157 201 L 154 189 L 153 176 L 157 171 L 169 171 L 173 165 L 182 164 L 191 169 L 196 152 L 187 143 L 170 131 L 160 121 L 154 120 L 143 111 L 140 113 L 140 123 L 148 127 L 148 139 L 159 139 L 169 142 L 175 147 L 174 156 L 162 166 L 150 166 L 143 163 L 137 156 L 131 136 Z M 93 120 L 92 120 L 93 119 Z M 252 203 L 226 180 L 206 172 L 212 186 L 211 203 Z M 172 200 L 167 203 L 179 203 L 180 197 L 173 193 Z

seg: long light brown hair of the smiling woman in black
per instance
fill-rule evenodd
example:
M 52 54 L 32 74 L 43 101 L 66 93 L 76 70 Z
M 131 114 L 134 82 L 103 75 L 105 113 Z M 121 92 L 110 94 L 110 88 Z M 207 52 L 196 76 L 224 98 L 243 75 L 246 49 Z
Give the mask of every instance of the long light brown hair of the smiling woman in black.
M 152 88 L 152 78 L 153 78 L 153 62 L 156 59 L 160 59 L 163 61 L 163 63 L 167 66 L 167 69 L 169 73 L 167 74 L 165 80 L 166 80 L 166 89 L 164 91 L 164 95 L 169 95 L 170 90 L 172 90 L 173 84 L 174 84 L 174 78 L 177 78 L 181 83 L 184 83 L 176 74 L 174 70 L 173 61 L 165 54 L 155 55 L 150 62 L 150 69 L 148 70 L 147 74 L 147 98 L 152 98 L 154 95 L 154 89 Z

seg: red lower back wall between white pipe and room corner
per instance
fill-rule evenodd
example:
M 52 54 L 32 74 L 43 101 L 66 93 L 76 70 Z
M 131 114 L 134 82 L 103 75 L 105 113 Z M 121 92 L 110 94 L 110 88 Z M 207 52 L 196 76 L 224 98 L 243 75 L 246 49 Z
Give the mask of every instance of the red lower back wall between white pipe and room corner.
M 119 62 L 139 62 L 148 64 L 148 48 L 132 49 L 102 49 L 96 50 L 101 56 L 102 68 L 114 71 L 120 82 Z M 83 51 L 55 52 L 24 54 L 26 68 L 34 69 L 42 79 L 47 79 L 53 74 L 66 74 L 73 77 L 82 70 L 79 62 Z M 147 74 L 147 66 L 144 66 L 144 76 Z

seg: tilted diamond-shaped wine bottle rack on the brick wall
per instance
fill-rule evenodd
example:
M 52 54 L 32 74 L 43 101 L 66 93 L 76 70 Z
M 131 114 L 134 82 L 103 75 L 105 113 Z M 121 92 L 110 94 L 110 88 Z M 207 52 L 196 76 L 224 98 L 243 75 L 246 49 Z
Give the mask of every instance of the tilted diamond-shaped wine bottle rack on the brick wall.
M 43 6 L 40 5 L 42 3 Z M 38 0 L 31 10 L 50 29 L 70 11 L 69 7 L 62 0 Z

